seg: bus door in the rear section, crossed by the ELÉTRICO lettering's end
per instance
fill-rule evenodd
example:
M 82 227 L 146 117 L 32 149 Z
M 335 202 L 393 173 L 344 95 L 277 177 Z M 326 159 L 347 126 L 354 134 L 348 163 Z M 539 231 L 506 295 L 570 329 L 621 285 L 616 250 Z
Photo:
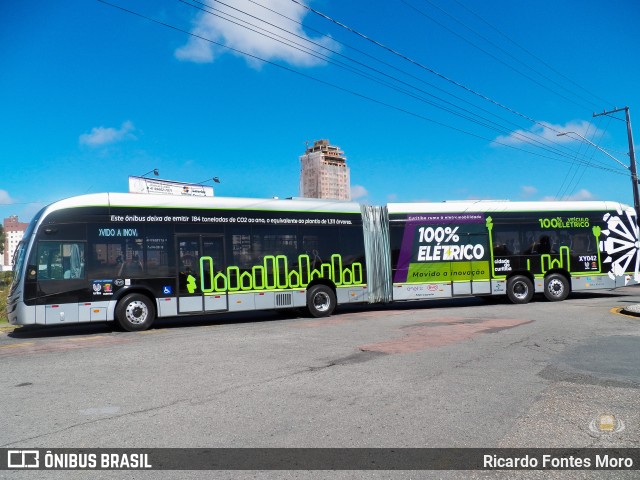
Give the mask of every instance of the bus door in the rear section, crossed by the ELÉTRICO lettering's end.
M 453 295 L 491 293 L 489 281 L 490 252 L 485 233 L 459 235 L 463 260 L 451 262 Z

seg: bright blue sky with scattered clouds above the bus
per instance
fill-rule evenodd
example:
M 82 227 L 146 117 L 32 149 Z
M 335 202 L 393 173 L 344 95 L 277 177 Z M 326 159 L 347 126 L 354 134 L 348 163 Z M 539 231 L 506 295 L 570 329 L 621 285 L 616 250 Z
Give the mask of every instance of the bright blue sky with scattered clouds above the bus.
M 153 168 L 217 176 L 221 196 L 296 196 L 323 138 L 371 204 L 632 203 L 625 168 L 557 133 L 628 164 L 624 113 L 592 114 L 629 106 L 640 125 L 636 1 L 306 0 L 333 21 L 292 0 L 108 1 L 156 22 L 0 3 L 2 217 Z

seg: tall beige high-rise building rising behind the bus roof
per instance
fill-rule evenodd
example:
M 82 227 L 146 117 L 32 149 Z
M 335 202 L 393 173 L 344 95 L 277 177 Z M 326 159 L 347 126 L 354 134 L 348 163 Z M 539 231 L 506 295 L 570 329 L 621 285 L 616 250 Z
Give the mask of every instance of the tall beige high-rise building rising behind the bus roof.
M 351 200 L 347 158 L 329 140 L 318 140 L 300 157 L 300 196 Z

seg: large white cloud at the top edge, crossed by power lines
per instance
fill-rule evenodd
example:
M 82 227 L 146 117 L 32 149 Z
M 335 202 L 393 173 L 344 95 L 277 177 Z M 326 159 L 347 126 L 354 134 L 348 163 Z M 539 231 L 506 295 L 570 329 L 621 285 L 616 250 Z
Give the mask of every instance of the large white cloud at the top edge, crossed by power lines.
M 217 56 L 229 51 L 207 40 L 224 44 L 229 48 L 255 55 L 264 60 L 284 60 L 296 66 L 313 66 L 325 63 L 324 60 L 302 51 L 305 48 L 311 48 L 325 55 L 328 53 L 308 41 L 313 41 L 332 50 L 337 49 L 337 44 L 333 40 L 326 37 L 311 38 L 303 31 L 301 25 L 284 18 L 289 17 L 296 22 L 302 22 L 307 10 L 299 5 L 290 0 L 263 0 L 261 3 L 273 11 L 262 8 L 249 0 L 235 0 L 232 3 L 233 8 L 219 3 L 212 5 L 211 8 L 216 8 L 216 11 L 212 11 L 214 15 L 207 12 L 199 13 L 194 20 L 191 33 L 202 38 L 190 37 L 185 45 L 176 49 L 176 58 L 188 62 L 211 63 Z M 245 22 L 251 25 L 246 25 Z M 240 25 L 245 25 L 247 28 Z M 288 45 L 282 42 L 288 43 Z M 291 44 L 295 45 L 289 46 Z M 234 53 L 244 56 L 239 52 Z M 259 60 L 250 57 L 246 57 L 246 60 L 253 67 L 261 66 Z

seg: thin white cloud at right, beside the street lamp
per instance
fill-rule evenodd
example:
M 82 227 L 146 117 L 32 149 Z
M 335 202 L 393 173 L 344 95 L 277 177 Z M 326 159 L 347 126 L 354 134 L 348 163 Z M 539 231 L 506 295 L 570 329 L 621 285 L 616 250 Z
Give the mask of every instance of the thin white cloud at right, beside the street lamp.
M 501 135 L 493 142 L 493 146 L 502 145 L 521 145 L 530 142 L 555 142 L 569 143 L 580 140 L 578 137 L 571 135 L 558 136 L 561 132 L 575 132 L 586 138 L 593 138 L 601 135 L 603 132 L 595 128 L 586 120 L 572 120 L 565 125 L 555 125 L 548 122 L 536 123 L 529 130 L 515 130 L 509 135 Z

